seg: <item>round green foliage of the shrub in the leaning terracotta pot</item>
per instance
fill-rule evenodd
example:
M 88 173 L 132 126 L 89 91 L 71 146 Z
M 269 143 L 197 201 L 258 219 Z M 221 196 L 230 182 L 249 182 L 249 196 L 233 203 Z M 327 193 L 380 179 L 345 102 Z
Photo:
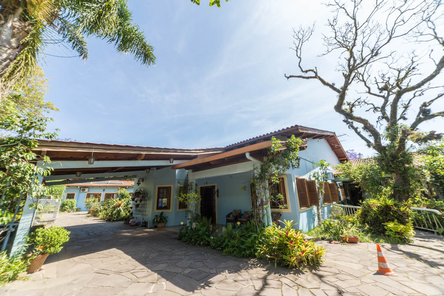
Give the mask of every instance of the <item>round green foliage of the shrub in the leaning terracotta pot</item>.
M 69 240 L 70 232 L 63 227 L 38 228 L 28 236 L 28 243 L 34 245 L 34 253 L 59 253 L 62 244 Z

